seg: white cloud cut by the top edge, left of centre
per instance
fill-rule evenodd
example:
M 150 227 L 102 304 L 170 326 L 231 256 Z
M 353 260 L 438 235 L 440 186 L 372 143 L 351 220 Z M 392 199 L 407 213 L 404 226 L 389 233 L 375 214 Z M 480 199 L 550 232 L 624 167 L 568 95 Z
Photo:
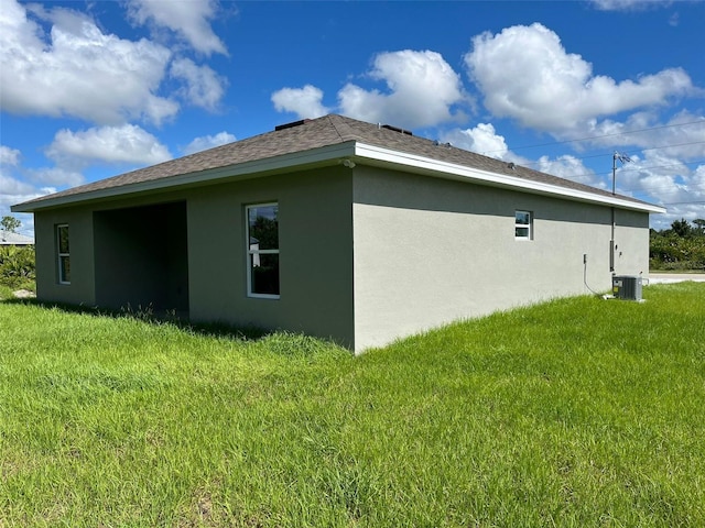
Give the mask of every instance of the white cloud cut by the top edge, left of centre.
M 139 24 L 153 23 L 167 28 L 185 38 L 191 46 L 206 55 L 227 55 L 223 41 L 210 28 L 218 3 L 213 0 L 130 0 L 129 14 Z

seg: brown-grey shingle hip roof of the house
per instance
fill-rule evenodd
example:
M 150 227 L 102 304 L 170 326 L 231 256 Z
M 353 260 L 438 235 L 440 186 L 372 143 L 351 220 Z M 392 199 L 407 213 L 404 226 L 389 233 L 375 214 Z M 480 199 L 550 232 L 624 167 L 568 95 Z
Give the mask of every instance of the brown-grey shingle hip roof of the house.
M 360 142 L 367 145 L 422 156 L 438 162 L 457 164 L 498 175 L 589 193 L 597 196 L 612 197 L 611 193 L 606 190 L 519 165 L 508 164 L 507 162 L 457 148 L 448 144 L 438 144 L 438 142 L 413 136 L 408 133 L 400 133 L 399 131 L 390 130 L 378 124 L 357 121 L 343 116 L 329 114 L 323 118 L 304 120 L 297 123 L 297 125 L 282 128 L 281 130 L 228 143 L 208 151 L 160 163 L 159 165 L 66 189 L 26 201 L 15 207 L 22 208 L 28 206 L 31 208 L 34 205 L 41 205 L 41 202 L 45 200 L 55 200 L 63 197 L 80 198 L 79 195 L 87 195 L 86 198 L 89 198 L 91 193 L 106 189 L 119 190 L 120 188 L 124 188 L 124 190 L 128 191 L 130 186 L 134 186 L 135 184 L 156 180 L 169 184 L 169 178 L 175 178 L 177 176 L 197 174 L 205 170 L 268 160 L 275 156 L 347 142 Z M 646 204 L 629 197 L 621 196 L 620 198 L 634 204 Z

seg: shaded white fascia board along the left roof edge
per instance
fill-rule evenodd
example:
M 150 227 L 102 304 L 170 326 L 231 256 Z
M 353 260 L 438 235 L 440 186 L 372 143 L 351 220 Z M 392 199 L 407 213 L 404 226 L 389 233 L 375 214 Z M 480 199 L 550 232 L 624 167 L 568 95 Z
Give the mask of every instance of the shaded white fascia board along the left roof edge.
M 194 187 L 219 182 L 234 182 L 238 179 L 265 176 L 275 172 L 302 166 L 330 165 L 332 163 L 338 163 L 341 158 L 351 157 L 354 154 L 355 142 L 349 141 L 319 148 L 312 148 L 310 151 L 294 152 L 292 154 L 283 154 L 252 162 L 237 163 L 196 173 L 167 176 L 149 182 L 126 184 L 119 187 L 89 190 L 87 193 L 78 193 L 75 195 L 58 196 L 56 198 L 50 197 L 46 200 L 39 202 L 12 206 L 11 210 L 13 212 L 34 212 L 42 209 L 70 206 L 78 202 L 119 198 L 142 193 Z

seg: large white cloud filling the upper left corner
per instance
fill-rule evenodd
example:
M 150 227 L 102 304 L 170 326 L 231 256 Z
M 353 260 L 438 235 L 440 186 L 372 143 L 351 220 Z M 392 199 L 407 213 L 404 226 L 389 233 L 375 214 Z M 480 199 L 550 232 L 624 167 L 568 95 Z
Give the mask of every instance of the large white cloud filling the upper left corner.
M 72 116 L 97 123 L 145 118 L 154 123 L 178 106 L 155 95 L 171 52 L 147 40 L 102 33 L 86 15 L 56 8 L 34 15 L 51 23 L 45 35 L 15 0 L 1 0 L 0 105 L 8 112 Z

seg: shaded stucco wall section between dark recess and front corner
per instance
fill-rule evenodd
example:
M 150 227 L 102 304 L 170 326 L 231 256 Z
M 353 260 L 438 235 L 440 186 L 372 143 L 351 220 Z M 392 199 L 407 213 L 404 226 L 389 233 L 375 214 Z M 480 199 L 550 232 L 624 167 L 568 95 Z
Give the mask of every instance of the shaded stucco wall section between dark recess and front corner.
M 352 344 L 352 184 L 333 167 L 218 185 L 188 198 L 191 318 Z M 245 207 L 279 204 L 279 299 L 247 295 Z

